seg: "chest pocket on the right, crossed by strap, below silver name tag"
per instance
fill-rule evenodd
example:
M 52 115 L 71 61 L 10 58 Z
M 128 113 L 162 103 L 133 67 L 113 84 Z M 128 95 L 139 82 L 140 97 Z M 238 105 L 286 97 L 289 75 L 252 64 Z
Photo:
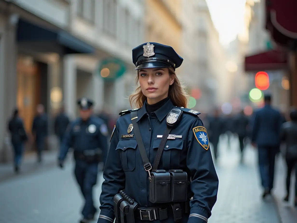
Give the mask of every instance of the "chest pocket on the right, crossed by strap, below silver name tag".
M 161 139 L 155 139 L 153 148 L 157 153 L 157 150 L 159 148 Z M 179 163 L 180 163 L 180 155 L 181 150 L 184 146 L 184 140 L 182 139 L 174 139 L 170 140 L 168 139 L 166 141 L 163 153 L 162 153 L 162 164 L 163 169 L 169 170 L 169 169 L 178 169 Z M 159 165 L 159 168 L 161 166 Z

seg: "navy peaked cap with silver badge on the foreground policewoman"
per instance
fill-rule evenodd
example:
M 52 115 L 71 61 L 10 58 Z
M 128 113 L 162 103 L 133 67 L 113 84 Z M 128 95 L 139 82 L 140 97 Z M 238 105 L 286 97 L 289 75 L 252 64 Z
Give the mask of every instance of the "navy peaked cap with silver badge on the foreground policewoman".
M 135 70 L 166 67 L 173 67 L 175 70 L 184 59 L 171 46 L 150 42 L 132 49 L 132 60 Z

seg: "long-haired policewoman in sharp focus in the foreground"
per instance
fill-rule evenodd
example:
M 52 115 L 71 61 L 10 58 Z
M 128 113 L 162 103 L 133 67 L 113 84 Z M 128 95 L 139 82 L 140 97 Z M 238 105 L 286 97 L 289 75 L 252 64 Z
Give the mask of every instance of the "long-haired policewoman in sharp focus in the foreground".
M 98 223 L 205 223 L 217 200 L 218 177 L 207 131 L 175 69 L 170 46 L 132 50 L 140 84 L 130 96 L 139 109 L 120 113 L 103 172 Z

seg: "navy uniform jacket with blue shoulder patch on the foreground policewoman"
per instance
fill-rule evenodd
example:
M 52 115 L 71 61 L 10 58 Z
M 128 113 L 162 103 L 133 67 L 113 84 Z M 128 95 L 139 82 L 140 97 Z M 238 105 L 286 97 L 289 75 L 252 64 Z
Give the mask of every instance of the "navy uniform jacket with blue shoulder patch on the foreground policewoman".
M 145 106 L 137 111 L 137 122 L 151 164 L 154 163 L 161 142 L 157 135 L 164 133 L 166 116 L 172 108 L 175 106 L 169 100 L 154 112 L 154 117 L 149 118 Z M 204 143 L 201 143 L 199 135 L 195 134 L 196 127 L 203 126 L 201 119 L 189 112 L 190 109 L 182 108 L 181 110 L 184 111 L 182 118 L 170 134 L 181 135 L 182 138 L 167 140 L 158 169 L 187 171 L 188 178 L 192 179 L 193 200 L 190 201 L 190 215 L 184 216 L 181 222 L 205 223 L 217 200 L 219 180 L 212 161 L 206 131 L 205 134 L 200 132 L 204 137 Z M 113 197 L 123 189 L 139 204 L 139 207 L 156 206 L 149 201 L 149 176 L 143 167 L 135 136 L 121 138 L 121 135 L 127 134 L 129 124 L 131 124 L 131 116 L 130 113 L 126 113 L 117 120 L 111 138 L 103 172 L 105 181 L 102 183 L 100 196 L 101 212 L 98 219 L 100 223 L 114 221 Z M 130 134 L 133 132 L 132 130 Z M 199 138 L 199 142 L 196 137 Z M 154 222 L 159 222 L 159 220 Z M 163 222 L 173 222 L 173 220 L 169 217 L 162 220 Z

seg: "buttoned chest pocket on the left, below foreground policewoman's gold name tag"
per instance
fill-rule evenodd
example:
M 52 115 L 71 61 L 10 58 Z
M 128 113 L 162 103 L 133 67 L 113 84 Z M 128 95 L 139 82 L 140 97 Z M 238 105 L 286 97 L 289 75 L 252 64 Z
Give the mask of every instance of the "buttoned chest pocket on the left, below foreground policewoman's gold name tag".
M 136 139 L 121 139 L 116 147 L 119 150 L 124 171 L 135 169 Z

